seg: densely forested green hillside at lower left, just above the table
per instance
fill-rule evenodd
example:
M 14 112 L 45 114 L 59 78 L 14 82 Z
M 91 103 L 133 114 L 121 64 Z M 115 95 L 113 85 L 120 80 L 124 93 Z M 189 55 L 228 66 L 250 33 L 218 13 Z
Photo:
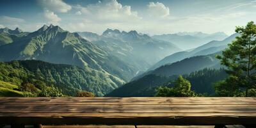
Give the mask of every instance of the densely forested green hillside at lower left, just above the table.
M 97 72 L 36 60 L 0 62 L 0 81 L 2 96 L 6 93 L 32 97 L 76 96 L 82 90 L 102 96 L 116 88 L 115 84 L 106 83 Z

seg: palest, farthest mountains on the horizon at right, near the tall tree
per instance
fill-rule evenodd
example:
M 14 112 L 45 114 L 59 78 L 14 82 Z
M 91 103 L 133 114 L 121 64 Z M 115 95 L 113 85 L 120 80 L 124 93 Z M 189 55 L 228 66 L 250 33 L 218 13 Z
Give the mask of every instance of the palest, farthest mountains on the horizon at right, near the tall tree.
M 222 32 L 212 34 L 206 34 L 202 32 L 180 32 L 167 35 L 154 35 L 152 37 L 159 40 L 173 42 L 173 44 L 177 45 L 181 49 L 192 49 L 200 45 L 206 44 L 207 42 L 210 42 L 212 40 L 223 40 L 227 38 L 227 35 Z

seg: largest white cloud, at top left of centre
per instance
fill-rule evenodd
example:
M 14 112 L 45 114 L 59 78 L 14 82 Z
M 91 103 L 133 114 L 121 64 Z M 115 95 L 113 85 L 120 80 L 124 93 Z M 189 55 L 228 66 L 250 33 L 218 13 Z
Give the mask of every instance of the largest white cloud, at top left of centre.
M 140 20 L 138 13 L 131 6 L 122 6 L 116 0 L 102 0 L 88 6 L 77 6 L 86 18 L 104 22 L 130 22 Z

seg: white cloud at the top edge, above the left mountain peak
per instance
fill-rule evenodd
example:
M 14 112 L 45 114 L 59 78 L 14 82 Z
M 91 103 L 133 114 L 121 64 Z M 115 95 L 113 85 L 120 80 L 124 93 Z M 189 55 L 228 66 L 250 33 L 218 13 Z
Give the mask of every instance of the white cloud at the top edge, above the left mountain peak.
M 38 3 L 44 8 L 44 10 L 51 10 L 52 12 L 65 13 L 72 8 L 62 0 L 38 0 Z

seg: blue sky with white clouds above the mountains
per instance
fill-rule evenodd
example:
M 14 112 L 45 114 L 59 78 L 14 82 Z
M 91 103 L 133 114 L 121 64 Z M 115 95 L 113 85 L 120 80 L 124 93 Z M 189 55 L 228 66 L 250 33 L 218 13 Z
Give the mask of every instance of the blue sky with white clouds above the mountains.
M 255 0 L 0 0 L 0 28 L 23 31 L 53 24 L 98 34 L 110 28 L 148 35 L 232 35 L 249 21 L 256 22 Z

